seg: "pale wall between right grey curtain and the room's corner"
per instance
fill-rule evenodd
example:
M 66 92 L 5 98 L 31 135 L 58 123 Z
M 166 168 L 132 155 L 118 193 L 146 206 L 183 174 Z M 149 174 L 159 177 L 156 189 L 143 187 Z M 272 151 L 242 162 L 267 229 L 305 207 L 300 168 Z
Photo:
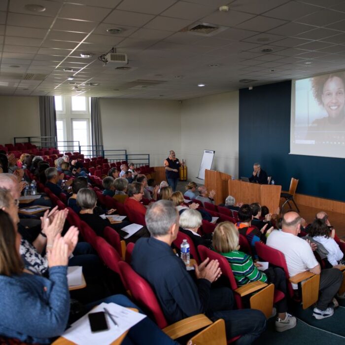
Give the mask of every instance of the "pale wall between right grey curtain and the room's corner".
M 163 166 L 169 150 L 181 157 L 178 101 L 104 98 L 100 107 L 104 149 L 149 153 L 151 167 Z

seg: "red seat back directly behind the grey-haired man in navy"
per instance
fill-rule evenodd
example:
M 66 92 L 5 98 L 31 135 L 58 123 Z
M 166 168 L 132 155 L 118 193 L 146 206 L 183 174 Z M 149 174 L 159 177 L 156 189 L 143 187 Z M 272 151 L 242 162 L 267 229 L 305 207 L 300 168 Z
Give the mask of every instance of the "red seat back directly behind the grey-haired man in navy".
M 167 327 L 167 320 L 150 284 L 139 276 L 127 262 L 119 262 L 118 267 L 122 282 L 128 286 L 135 301 L 152 312 L 158 327 Z

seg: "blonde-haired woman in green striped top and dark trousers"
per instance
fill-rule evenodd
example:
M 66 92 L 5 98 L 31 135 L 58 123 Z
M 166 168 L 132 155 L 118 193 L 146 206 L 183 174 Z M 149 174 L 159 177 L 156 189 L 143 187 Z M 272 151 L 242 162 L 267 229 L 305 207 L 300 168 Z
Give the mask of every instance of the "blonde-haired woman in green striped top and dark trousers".
M 214 250 L 228 260 L 237 284 L 242 286 L 257 280 L 271 282 L 287 296 L 284 271 L 280 268 L 259 271 L 257 267 L 261 265 L 254 264 L 250 255 L 240 251 L 239 239 L 235 224 L 222 222 L 214 229 L 212 240 Z M 283 332 L 296 326 L 296 317 L 287 313 L 286 297 L 276 303 L 276 309 L 276 331 Z

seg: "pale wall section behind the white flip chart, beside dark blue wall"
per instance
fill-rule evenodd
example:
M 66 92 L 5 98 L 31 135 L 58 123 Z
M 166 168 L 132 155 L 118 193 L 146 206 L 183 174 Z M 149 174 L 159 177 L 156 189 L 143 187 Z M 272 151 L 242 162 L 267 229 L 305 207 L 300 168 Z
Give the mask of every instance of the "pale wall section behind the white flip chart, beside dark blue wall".
M 188 180 L 198 176 L 204 149 L 215 150 L 212 169 L 238 175 L 239 92 L 228 92 L 182 102 L 182 155 Z

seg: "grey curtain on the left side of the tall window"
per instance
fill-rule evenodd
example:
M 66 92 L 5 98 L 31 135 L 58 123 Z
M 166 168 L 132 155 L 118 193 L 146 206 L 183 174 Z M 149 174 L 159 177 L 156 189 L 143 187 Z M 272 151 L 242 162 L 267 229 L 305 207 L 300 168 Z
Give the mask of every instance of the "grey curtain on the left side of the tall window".
M 56 147 L 56 111 L 54 96 L 39 96 L 41 146 Z

